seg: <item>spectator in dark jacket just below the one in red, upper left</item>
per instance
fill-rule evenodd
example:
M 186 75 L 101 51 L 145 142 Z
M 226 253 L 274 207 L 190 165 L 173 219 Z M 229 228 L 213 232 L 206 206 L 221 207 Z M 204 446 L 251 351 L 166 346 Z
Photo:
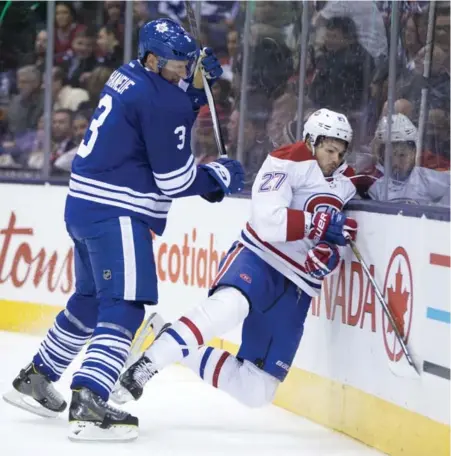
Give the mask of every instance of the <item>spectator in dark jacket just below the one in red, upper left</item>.
M 97 66 L 94 55 L 95 38 L 88 30 L 78 32 L 72 41 L 72 49 L 64 56 L 64 68 L 72 87 L 83 87 L 92 70 Z

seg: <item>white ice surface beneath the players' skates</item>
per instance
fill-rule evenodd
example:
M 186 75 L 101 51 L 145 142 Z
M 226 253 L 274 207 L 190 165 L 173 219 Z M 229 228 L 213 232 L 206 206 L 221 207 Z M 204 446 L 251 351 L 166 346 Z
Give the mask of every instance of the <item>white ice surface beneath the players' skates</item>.
M 35 353 L 40 338 L 0 332 L 0 393 Z M 70 400 L 71 373 L 57 387 Z M 67 411 L 45 419 L 0 401 L 1 456 L 375 456 L 373 449 L 275 406 L 249 409 L 174 366 L 151 380 L 139 402 L 124 406 L 140 419 L 129 443 L 73 443 Z

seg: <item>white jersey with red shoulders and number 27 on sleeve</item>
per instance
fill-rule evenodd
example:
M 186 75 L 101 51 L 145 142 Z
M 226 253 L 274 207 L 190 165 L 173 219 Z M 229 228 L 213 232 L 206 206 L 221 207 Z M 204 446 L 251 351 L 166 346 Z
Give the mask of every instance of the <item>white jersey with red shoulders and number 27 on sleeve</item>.
M 355 195 L 353 175 L 343 164 L 332 177 L 324 177 L 304 142 L 272 152 L 255 178 L 251 219 L 240 242 L 308 295 L 318 295 L 322 280 L 304 268 L 307 252 L 316 244 L 307 238 L 311 214 L 341 211 Z

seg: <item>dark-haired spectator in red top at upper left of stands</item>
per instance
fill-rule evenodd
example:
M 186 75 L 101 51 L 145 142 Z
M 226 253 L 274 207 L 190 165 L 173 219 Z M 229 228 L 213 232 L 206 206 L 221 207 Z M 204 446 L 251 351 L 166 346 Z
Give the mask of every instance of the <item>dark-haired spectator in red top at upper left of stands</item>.
M 77 24 L 72 2 L 58 2 L 55 9 L 55 61 L 62 63 L 73 41 L 85 26 Z

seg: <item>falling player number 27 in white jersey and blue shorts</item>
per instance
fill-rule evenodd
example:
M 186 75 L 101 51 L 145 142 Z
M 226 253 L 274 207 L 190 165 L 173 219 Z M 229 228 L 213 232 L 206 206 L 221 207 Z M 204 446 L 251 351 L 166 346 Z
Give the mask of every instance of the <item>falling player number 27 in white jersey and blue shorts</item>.
M 352 129 L 321 109 L 304 142 L 272 152 L 252 188 L 252 213 L 198 307 L 167 327 L 120 377 L 113 400 L 138 399 L 144 384 L 183 359 L 204 381 L 251 407 L 269 403 L 298 349 L 313 296 L 340 261 L 357 223 L 341 211 L 354 196 L 344 162 Z M 204 346 L 243 323 L 238 354 Z

